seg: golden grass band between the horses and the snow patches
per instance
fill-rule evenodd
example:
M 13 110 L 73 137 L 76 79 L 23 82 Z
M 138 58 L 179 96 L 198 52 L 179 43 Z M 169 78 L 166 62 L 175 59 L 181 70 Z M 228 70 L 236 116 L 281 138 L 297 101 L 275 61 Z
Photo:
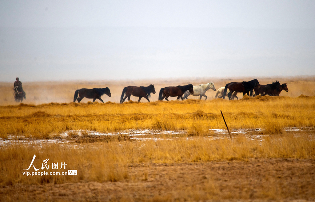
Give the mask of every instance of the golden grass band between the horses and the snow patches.
M 207 135 L 209 129 L 262 128 L 281 134 L 284 127 L 314 127 L 315 97 L 244 97 L 156 101 L 151 103 L 50 103 L 0 106 L 0 137 L 24 135 L 37 139 L 67 130 L 112 132 L 127 129 L 187 130 Z

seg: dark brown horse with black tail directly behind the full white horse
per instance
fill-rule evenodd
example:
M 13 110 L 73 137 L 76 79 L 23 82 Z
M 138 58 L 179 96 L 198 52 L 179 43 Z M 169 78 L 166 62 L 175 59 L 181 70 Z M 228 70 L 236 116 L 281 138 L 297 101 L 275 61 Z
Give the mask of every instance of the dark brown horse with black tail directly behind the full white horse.
M 177 99 L 181 98 L 181 100 L 183 100 L 183 94 L 187 90 L 191 94 L 194 93 L 192 84 L 188 84 L 186 86 L 169 86 L 169 87 L 161 88 L 159 96 L 158 96 L 158 100 L 163 100 L 165 98 L 167 101 L 169 101 L 167 99 L 169 96 L 170 97 L 177 96 Z

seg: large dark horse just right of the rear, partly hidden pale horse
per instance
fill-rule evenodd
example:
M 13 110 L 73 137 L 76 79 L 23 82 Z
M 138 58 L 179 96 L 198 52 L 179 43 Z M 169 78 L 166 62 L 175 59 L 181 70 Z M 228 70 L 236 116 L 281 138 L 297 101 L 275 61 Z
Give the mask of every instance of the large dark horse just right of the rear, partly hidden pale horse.
M 250 96 L 252 96 L 253 94 L 253 90 L 255 88 L 255 86 L 258 86 L 259 82 L 257 79 L 253 79 L 251 81 L 243 81 L 243 82 L 231 82 L 231 83 L 227 83 L 225 85 L 224 91 L 223 91 L 223 99 L 225 98 L 227 89 L 230 90 L 230 93 L 228 93 L 227 95 L 229 96 L 229 100 L 232 99 L 231 95 L 232 93 L 238 92 L 238 93 L 243 93 L 243 96 L 247 93 L 247 95 L 249 96 L 249 91 L 250 91 Z

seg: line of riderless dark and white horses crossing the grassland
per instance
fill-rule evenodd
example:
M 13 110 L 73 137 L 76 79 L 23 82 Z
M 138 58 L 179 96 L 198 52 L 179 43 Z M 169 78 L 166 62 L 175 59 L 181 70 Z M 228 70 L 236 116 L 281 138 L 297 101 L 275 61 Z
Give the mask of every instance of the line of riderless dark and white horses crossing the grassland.
M 199 96 L 199 99 L 207 96 L 205 93 L 207 90 L 212 89 L 216 91 L 215 85 L 213 82 L 209 82 L 207 84 L 201 84 L 199 86 L 193 86 L 192 84 L 188 84 L 186 86 L 169 86 L 165 88 L 161 88 L 158 100 L 169 101 L 169 97 L 177 97 L 177 100 L 181 98 L 181 100 L 188 99 L 189 95 Z M 225 99 L 228 96 L 229 100 L 238 99 L 236 96 L 237 93 L 243 93 L 243 96 L 247 94 L 248 96 L 257 96 L 257 95 L 269 95 L 269 96 L 279 96 L 280 92 L 285 90 L 288 92 L 287 84 L 280 84 L 280 82 L 275 81 L 271 84 L 261 85 L 259 84 L 257 79 L 253 79 L 251 81 L 243 81 L 243 82 L 231 82 L 227 83 L 225 87 L 219 88 L 215 98 L 223 98 Z M 253 94 L 255 92 L 255 94 Z M 120 103 L 123 103 L 126 98 L 130 100 L 130 96 L 133 95 L 135 97 L 139 97 L 138 102 L 140 102 L 141 98 L 146 98 L 148 102 L 150 102 L 149 98 L 151 97 L 151 93 L 155 94 L 154 85 L 151 84 L 147 87 L 144 86 L 127 86 L 123 88 L 123 93 L 121 94 Z M 82 88 L 76 90 L 74 93 L 73 102 L 76 100 L 80 102 L 83 98 L 93 99 L 93 102 L 96 99 L 99 99 L 102 103 L 104 101 L 101 99 L 102 95 L 112 96 L 111 91 L 108 87 L 106 88 Z M 78 97 L 79 96 L 79 97 Z

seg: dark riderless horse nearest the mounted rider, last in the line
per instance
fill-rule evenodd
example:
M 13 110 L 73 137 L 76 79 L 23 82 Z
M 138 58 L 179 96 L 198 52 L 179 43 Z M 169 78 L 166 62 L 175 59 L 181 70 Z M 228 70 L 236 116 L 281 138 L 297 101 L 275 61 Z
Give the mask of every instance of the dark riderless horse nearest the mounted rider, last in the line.
M 79 98 L 78 98 L 78 94 L 79 94 Z M 102 98 L 100 98 L 102 95 L 108 95 L 108 97 L 111 97 L 111 91 L 109 90 L 108 87 L 106 88 L 81 88 L 79 90 L 76 90 L 76 92 L 74 93 L 74 98 L 73 98 L 73 102 L 75 102 L 76 100 L 78 102 L 81 102 L 81 100 L 83 98 L 90 98 L 93 99 L 93 102 L 96 99 L 99 99 L 100 101 L 102 101 L 102 103 L 104 103 L 104 101 L 102 100 Z

